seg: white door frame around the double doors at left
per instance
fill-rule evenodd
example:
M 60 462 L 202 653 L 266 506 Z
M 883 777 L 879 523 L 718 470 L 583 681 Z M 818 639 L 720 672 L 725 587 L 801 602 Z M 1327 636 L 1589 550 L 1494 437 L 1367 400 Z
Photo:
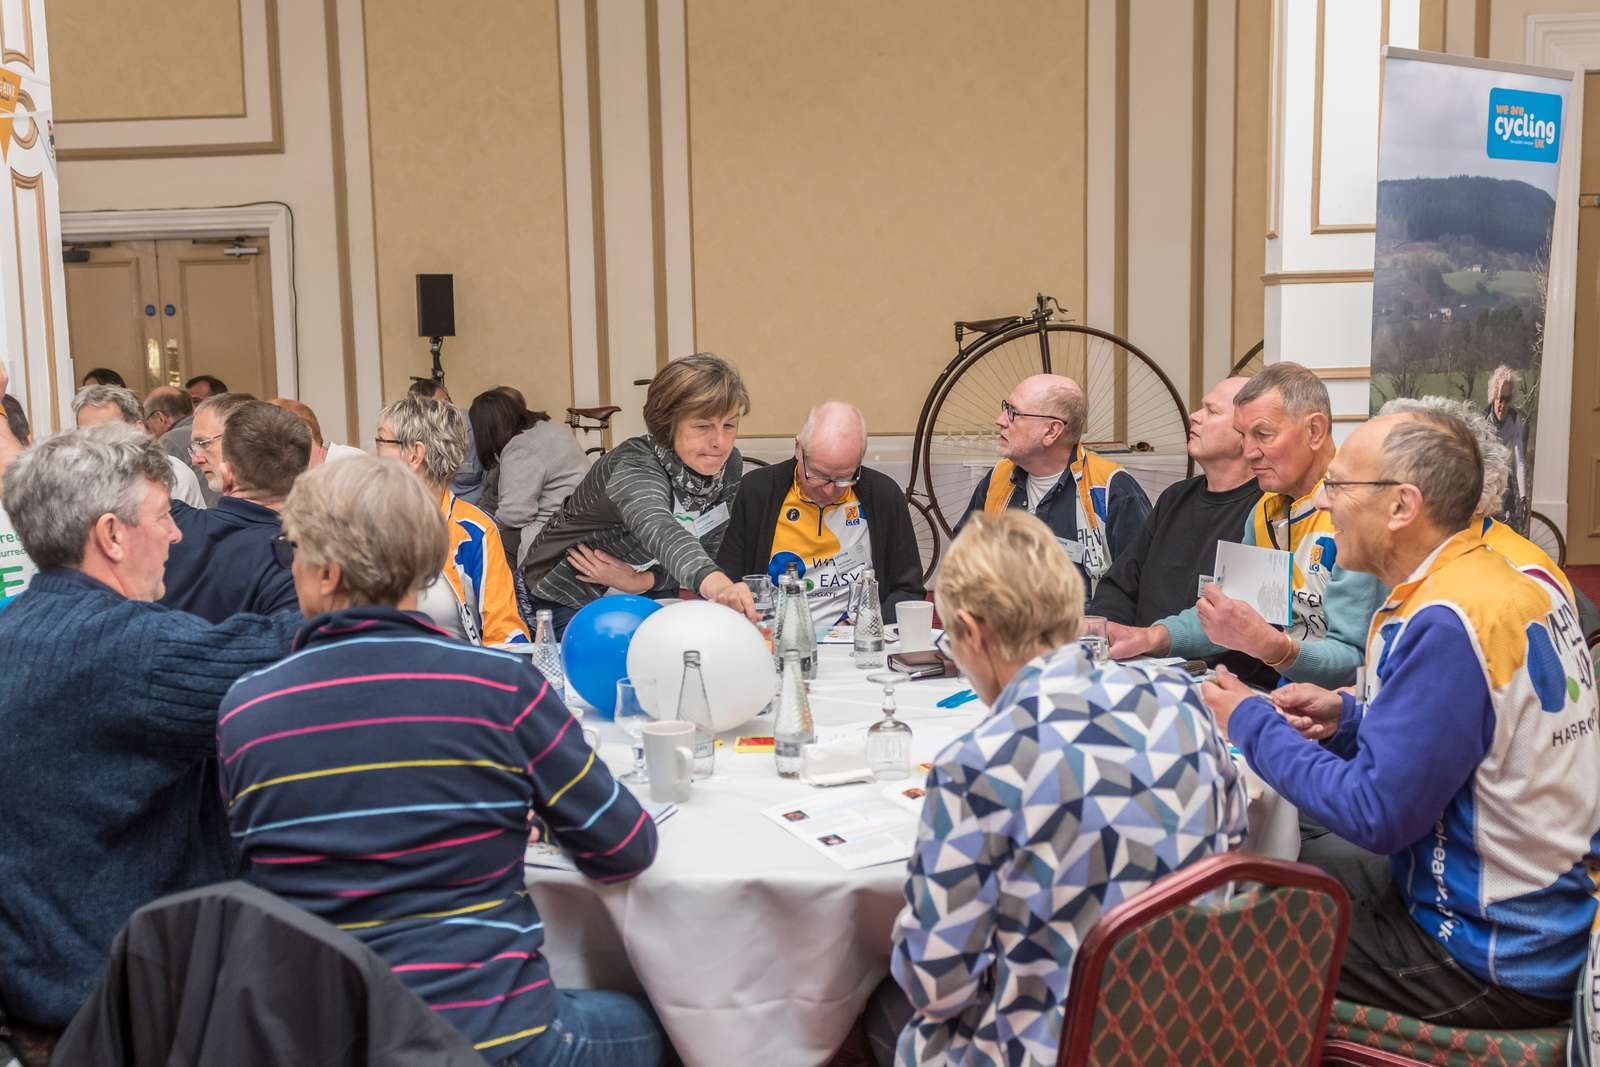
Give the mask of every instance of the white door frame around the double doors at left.
M 266 235 L 272 270 L 272 347 L 278 395 L 299 398 L 299 346 L 294 336 L 294 222 L 282 203 L 238 208 L 150 211 L 62 211 L 61 240 L 136 242 L 195 237 Z

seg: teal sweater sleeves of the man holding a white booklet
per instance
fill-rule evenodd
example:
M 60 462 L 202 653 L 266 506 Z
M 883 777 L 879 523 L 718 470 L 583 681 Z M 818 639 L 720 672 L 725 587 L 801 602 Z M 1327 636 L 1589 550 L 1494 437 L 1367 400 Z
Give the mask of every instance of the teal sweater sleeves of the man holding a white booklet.
M 1291 627 L 1291 635 L 1299 641 L 1299 656 L 1280 673 L 1288 681 L 1310 681 L 1336 689 L 1355 683 L 1355 672 L 1366 659 L 1366 630 L 1389 589 L 1371 574 L 1338 566 L 1333 536 L 1326 533 L 1315 536 L 1323 539 L 1325 560 L 1331 571 L 1328 585 L 1317 603 L 1306 603 L 1296 592 L 1296 625 Z M 1240 541 L 1256 544 L 1254 514 L 1245 517 L 1245 536 Z M 1310 633 L 1304 632 L 1302 611 L 1322 616 Z M 1322 621 L 1326 624 L 1325 633 L 1320 632 Z M 1205 659 L 1227 651 L 1206 637 L 1195 608 L 1166 616 L 1157 625 L 1165 625 L 1173 635 L 1173 656 Z

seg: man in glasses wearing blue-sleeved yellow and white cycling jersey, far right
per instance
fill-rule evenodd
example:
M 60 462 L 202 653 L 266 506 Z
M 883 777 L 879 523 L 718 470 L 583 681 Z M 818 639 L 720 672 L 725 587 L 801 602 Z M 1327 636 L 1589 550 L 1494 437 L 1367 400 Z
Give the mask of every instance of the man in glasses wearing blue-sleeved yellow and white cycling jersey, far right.
M 1355 901 L 1339 995 L 1520 1029 L 1571 1013 L 1595 923 L 1600 729 L 1573 606 L 1483 542 L 1482 486 L 1459 419 L 1362 426 L 1317 499 L 1339 563 L 1392 587 L 1362 694 L 1269 702 L 1226 675 L 1205 694 L 1250 765 L 1338 835 L 1302 859 Z

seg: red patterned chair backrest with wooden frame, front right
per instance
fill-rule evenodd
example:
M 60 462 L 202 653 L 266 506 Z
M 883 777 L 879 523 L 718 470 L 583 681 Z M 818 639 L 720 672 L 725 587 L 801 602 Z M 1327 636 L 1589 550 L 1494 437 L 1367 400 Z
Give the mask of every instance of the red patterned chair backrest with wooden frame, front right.
M 1213 901 L 1229 883 L 1253 885 Z M 1168 875 L 1085 937 L 1058 1065 L 1315 1064 L 1349 925 L 1315 867 L 1224 853 Z

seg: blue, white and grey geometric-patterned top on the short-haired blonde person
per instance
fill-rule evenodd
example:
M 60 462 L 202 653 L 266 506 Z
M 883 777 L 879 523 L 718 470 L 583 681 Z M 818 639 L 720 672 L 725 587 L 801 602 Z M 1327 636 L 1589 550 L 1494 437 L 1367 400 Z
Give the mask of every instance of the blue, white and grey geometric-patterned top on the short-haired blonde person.
M 1110 907 L 1245 835 L 1245 785 L 1178 667 L 1018 672 L 928 774 L 890 961 L 898 1064 L 1054 1064 L 1072 958 Z

